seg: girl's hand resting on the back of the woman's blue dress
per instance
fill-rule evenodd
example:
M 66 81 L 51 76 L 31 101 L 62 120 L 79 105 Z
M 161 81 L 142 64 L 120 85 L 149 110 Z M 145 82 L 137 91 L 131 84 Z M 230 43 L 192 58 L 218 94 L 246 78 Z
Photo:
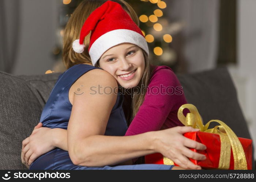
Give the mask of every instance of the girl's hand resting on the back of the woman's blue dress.
M 32 134 L 22 141 L 22 163 L 26 166 L 42 154 L 55 148 L 52 129 L 37 125 Z

